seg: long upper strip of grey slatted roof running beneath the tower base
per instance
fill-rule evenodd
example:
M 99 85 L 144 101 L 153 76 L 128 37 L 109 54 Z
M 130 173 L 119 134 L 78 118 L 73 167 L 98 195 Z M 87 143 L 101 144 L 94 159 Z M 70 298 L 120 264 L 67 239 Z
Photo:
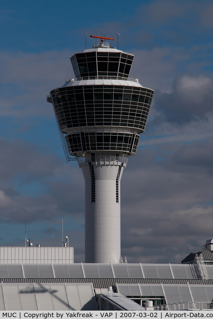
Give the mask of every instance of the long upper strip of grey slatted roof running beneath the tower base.
M 206 265 L 206 270 L 213 279 L 213 266 Z M 192 264 L 0 264 L 0 278 L 197 280 L 201 275 Z

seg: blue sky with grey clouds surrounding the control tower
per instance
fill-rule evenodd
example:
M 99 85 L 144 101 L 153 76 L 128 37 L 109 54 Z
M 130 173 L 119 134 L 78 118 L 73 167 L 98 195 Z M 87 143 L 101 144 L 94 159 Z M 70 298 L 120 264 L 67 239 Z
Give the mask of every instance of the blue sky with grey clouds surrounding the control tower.
M 84 179 L 66 163 L 50 90 L 74 78 L 87 36 L 135 55 L 155 90 L 121 180 L 121 255 L 179 263 L 213 238 L 213 4 L 209 0 L 0 1 L 0 246 L 61 246 L 84 262 Z M 94 40 L 87 37 L 87 48 Z M 54 242 L 52 237 L 54 235 Z

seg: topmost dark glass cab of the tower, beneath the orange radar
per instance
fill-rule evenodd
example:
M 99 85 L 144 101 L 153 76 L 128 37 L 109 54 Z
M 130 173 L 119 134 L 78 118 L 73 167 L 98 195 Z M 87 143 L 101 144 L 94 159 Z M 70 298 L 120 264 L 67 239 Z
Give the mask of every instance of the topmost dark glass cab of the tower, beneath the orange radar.
M 133 63 L 132 54 L 121 52 L 86 52 L 70 57 L 76 78 L 118 76 L 128 78 Z

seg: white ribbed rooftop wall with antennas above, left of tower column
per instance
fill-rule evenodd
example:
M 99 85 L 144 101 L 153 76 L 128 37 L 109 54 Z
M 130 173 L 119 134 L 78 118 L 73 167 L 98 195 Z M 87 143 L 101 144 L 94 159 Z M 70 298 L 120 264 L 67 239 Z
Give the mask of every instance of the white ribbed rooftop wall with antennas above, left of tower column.
M 73 247 L 0 247 L 0 263 L 73 263 Z

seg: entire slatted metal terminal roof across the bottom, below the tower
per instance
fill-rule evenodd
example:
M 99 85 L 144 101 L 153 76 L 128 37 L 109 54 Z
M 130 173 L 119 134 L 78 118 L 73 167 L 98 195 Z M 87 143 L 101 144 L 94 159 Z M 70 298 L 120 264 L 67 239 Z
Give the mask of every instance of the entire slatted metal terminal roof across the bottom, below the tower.
M 187 264 L 0 264 L 0 310 L 207 309 L 206 270 L 208 280 Z

